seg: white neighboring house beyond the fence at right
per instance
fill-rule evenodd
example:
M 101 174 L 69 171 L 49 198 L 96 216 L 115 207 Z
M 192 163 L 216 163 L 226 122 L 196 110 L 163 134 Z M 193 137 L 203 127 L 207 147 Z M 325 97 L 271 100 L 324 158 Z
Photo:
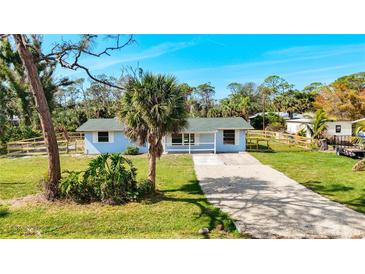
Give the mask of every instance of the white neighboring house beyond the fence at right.
M 327 124 L 327 135 L 329 136 L 351 136 L 352 121 L 329 121 Z M 286 121 L 286 131 L 291 134 L 296 134 L 298 131 L 308 129 L 312 126 L 312 119 L 291 119 Z M 310 132 L 307 130 L 307 137 L 310 137 Z

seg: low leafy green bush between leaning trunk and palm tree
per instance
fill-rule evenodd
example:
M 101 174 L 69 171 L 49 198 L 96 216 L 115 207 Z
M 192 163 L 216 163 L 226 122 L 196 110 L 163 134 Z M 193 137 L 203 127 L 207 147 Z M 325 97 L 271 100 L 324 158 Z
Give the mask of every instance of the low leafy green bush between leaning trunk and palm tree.
M 61 180 L 62 196 L 76 202 L 122 204 L 137 198 L 136 168 L 120 154 L 102 154 Z

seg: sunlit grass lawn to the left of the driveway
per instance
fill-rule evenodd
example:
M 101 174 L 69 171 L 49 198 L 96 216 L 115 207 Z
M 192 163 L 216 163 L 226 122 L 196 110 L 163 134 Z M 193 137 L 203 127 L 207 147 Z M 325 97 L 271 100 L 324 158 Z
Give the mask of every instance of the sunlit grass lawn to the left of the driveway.
M 147 172 L 145 155 L 130 157 L 139 178 Z M 63 169 L 80 170 L 89 157 L 64 156 Z M 122 206 L 100 203 L 31 202 L 9 206 L 10 199 L 40 191 L 45 157 L 0 158 L 0 238 L 238 238 L 233 222 L 201 192 L 189 155 L 166 155 L 157 163 L 160 194 Z M 7 201 L 6 201 L 7 200 Z M 228 232 L 216 229 L 224 224 Z

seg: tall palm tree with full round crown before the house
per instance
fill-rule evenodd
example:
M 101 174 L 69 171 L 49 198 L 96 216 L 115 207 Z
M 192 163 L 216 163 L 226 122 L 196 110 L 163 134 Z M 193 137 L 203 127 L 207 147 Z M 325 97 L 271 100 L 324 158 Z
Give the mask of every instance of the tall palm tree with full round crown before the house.
M 175 77 L 141 73 L 125 85 L 119 117 L 125 134 L 139 145 L 148 142 L 148 180 L 156 182 L 156 158 L 163 152 L 162 138 L 186 126 L 185 97 Z

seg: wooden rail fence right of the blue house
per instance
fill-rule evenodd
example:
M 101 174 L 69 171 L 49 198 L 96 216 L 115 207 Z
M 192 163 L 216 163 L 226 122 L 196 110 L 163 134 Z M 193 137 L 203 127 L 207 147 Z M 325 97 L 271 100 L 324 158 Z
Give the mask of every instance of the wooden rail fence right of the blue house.
M 259 149 L 260 144 L 262 143 L 266 143 L 266 146 L 268 147 L 269 141 L 276 141 L 278 143 L 297 146 L 305 149 L 310 149 L 313 144 L 312 138 L 267 130 L 249 130 L 247 131 L 246 139 L 247 149 Z

